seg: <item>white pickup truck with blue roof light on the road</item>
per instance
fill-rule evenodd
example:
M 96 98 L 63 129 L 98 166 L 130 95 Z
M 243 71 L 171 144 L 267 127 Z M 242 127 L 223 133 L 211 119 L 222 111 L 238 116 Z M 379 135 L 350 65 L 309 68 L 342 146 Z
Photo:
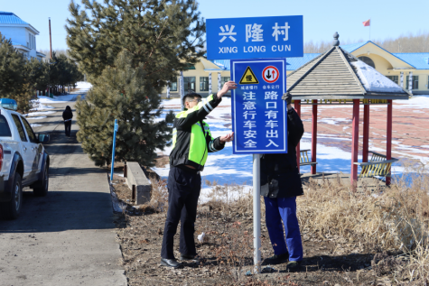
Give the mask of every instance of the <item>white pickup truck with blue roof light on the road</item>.
M 35 196 L 46 196 L 49 187 L 49 154 L 42 143 L 48 134 L 34 134 L 17 113 L 13 99 L 0 99 L 0 217 L 14 219 L 23 207 L 23 187 Z

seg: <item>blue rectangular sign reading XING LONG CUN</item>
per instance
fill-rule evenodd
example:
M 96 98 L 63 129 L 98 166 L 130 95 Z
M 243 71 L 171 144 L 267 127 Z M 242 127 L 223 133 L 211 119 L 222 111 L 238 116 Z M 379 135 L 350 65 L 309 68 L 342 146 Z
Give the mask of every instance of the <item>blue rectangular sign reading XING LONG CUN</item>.
M 303 57 L 303 16 L 207 19 L 207 59 Z

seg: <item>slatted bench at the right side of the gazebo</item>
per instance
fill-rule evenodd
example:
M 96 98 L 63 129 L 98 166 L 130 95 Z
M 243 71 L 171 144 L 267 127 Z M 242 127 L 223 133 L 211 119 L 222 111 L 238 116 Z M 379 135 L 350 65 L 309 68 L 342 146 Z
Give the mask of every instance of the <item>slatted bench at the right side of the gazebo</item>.
M 360 171 L 359 178 L 369 178 L 369 177 L 390 177 L 390 169 L 392 163 L 399 161 L 398 159 L 392 158 L 387 160 L 386 155 L 380 154 L 378 152 L 372 152 L 371 160 L 368 162 L 355 162 L 356 165 L 360 166 L 362 170 Z

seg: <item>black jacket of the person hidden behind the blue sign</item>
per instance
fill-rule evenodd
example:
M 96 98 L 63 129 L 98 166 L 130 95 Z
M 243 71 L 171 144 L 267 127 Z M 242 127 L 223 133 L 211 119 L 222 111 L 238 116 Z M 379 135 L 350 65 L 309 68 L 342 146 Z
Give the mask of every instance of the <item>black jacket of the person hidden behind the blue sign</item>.
M 261 157 L 261 195 L 289 198 L 303 195 L 303 184 L 296 162 L 296 146 L 303 137 L 303 121 L 294 111 L 287 112 L 287 153 Z

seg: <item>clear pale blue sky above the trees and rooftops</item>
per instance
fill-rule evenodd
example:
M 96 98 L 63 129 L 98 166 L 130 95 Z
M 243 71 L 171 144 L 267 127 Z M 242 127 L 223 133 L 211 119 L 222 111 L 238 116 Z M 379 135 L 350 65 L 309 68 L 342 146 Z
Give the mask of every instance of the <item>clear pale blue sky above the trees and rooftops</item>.
M 80 3 L 80 0 L 76 0 Z M 429 1 L 399 0 L 200 0 L 204 18 L 303 15 L 304 42 L 368 40 L 362 22 L 371 18 L 371 39 L 396 38 L 402 33 L 429 32 Z M 0 0 L 0 10 L 13 12 L 39 30 L 38 49 L 49 49 L 48 17 L 51 17 L 52 49 L 66 49 L 64 25 L 70 17 L 70 0 Z

